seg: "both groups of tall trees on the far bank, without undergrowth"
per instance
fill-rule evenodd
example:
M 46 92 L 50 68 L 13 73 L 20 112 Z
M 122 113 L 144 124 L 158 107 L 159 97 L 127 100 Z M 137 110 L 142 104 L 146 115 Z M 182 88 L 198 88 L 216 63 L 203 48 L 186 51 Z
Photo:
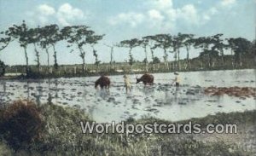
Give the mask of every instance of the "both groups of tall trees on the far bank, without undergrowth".
M 60 28 L 57 25 L 49 25 L 43 27 L 30 28 L 26 26 L 26 22 L 23 21 L 19 26 L 13 25 L 8 30 L 1 32 L 0 38 L 0 52 L 8 47 L 9 43 L 16 41 L 20 44 L 20 47 L 24 51 L 26 58 L 26 73 L 29 73 L 27 47 L 32 46 L 34 54 L 36 56 L 36 63 L 38 66 L 38 72 L 40 72 L 40 55 L 46 53 L 48 58 L 48 72 L 49 72 L 49 52 L 54 54 L 54 67 L 58 69 L 57 50 L 56 44 L 60 42 L 66 42 L 67 48 L 73 51 L 79 51 L 79 57 L 82 59 L 83 72 L 86 70 L 85 55 L 91 51 L 95 56 L 95 64 L 97 70 L 101 61 L 98 59 L 96 50 L 96 44 L 102 40 L 104 35 L 97 35 L 92 31 L 89 26 L 65 26 Z M 253 43 L 254 42 L 254 43 Z M 118 44 L 108 45 L 111 48 L 111 65 L 113 66 L 113 47 L 124 47 L 129 49 L 128 63 L 132 67 L 135 63 L 135 59 L 132 55 L 132 50 L 136 48 L 143 49 L 143 60 L 145 69 L 148 71 L 148 52 L 151 54 L 152 63 L 159 63 L 160 59 L 155 57 L 154 53 L 157 51 L 163 52 L 163 61 L 165 68 L 169 69 L 168 55 L 172 54 L 175 62 L 175 68 L 181 69 L 181 52 L 186 53 L 185 65 L 187 69 L 191 68 L 190 51 L 191 49 L 200 49 L 199 58 L 201 63 L 211 68 L 214 63 L 221 62 L 222 66 L 225 66 L 224 51 L 230 50 L 232 56 L 232 66 L 241 66 L 242 56 L 255 53 L 255 41 L 250 42 L 246 38 L 223 38 L 223 34 L 216 34 L 209 37 L 195 38 L 194 34 L 177 33 L 177 35 L 171 34 L 156 34 L 152 36 L 145 36 L 143 38 L 131 38 L 120 41 Z M 78 50 L 74 50 L 78 49 Z M 182 50 L 183 49 L 183 50 Z M 195 50 L 194 50 L 195 51 Z M 220 60 L 220 61 L 219 61 Z

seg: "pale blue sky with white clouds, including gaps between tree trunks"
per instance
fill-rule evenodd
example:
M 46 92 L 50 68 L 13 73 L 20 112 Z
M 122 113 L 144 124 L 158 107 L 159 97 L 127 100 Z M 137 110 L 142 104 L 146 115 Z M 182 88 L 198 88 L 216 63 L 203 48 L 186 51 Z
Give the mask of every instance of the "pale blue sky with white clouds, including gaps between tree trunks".
M 106 34 L 96 49 L 99 60 L 109 62 L 110 49 L 104 43 L 159 33 L 193 33 L 196 37 L 224 33 L 224 38 L 241 37 L 252 41 L 255 38 L 255 9 L 255 0 L 0 0 L 0 31 L 13 24 L 19 25 L 22 20 L 30 27 L 48 24 L 90 26 L 97 34 Z M 59 64 L 82 62 L 79 52 L 70 53 L 65 43 L 57 43 L 56 50 Z M 132 53 L 136 60 L 143 61 L 143 49 L 134 49 Z M 32 46 L 28 54 L 30 64 L 35 64 Z M 163 60 L 161 50 L 155 55 Z M 198 51 L 193 49 L 191 56 L 197 55 Z M 127 60 L 128 49 L 114 49 L 113 57 L 115 61 Z M 8 65 L 26 62 L 18 43 L 10 43 L 3 49 L 0 59 Z M 172 54 L 168 60 L 173 60 Z M 87 49 L 85 61 L 95 61 L 91 49 Z M 41 62 L 47 62 L 44 51 Z M 52 54 L 50 63 L 53 64 Z

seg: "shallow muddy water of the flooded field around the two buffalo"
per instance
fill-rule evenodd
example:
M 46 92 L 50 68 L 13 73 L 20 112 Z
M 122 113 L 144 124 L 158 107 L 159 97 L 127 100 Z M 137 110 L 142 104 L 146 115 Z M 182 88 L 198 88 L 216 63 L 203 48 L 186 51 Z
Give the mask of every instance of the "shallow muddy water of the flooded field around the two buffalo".
M 39 104 L 80 107 L 97 122 L 125 118 L 156 117 L 171 121 L 199 118 L 215 113 L 243 112 L 256 109 L 255 97 L 209 96 L 205 87 L 256 87 L 256 70 L 180 72 L 182 86 L 171 85 L 173 73 L 155 73 L 154 85 L 135 84 L 126 94 L 122 76 L 110 76 L 109 92 L 95 90 L 97 77 L 54 78 L 29 81 L 1 81 L 0 103 L 27 98 Z

